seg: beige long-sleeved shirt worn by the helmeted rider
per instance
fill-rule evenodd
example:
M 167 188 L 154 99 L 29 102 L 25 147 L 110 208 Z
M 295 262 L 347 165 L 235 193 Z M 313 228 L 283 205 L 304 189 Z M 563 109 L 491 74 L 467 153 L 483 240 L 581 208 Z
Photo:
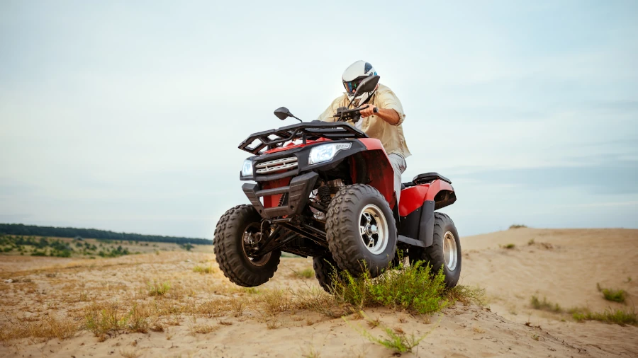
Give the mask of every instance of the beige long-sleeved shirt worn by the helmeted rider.
M 318 120 L 334 122 L 335 117 L 332 117 L 332 115 L 337 112 L 337 108 L 345 107 L 348 103 L 348 96 L 346 93 L 343 93 L 342 96 L 332 101 L 332 104 L 318 117 Z M 401 101 L 398 100 L 390 88 L 379 83 L 379 88 L 376 89 L 374 96 L 372 96 L 368 103 L 386 110 L 396 110 L 399 115 L 399 122 L 396 125 L 391 125 L 381 119 L 381 117 L 371 115 L 359 120 L 359 122 L 361 122 L 360 129 L 362 132 L 367 134 L 368 137 L 379 139 L 388 155 L 399 154 L 403 156 L 403 158 L 408 158 L 411 154 L 410 150 L 408 150 L 408 145 L 405 144 L 405 137 L 403 136 L 402 124 L 405 120 L 405 113 L 403 113 Z M 354 126 L 352 121 L 346 121 L 346 123 Z M 357 123 L 357 127 L 359 127 L 359 123 Z

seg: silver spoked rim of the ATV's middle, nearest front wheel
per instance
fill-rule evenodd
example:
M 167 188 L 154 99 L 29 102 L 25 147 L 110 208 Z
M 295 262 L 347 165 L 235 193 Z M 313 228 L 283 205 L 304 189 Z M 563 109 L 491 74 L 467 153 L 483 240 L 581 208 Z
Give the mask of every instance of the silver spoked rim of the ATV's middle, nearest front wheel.
M 379 255 L 388 246 L 388 221 L 381 209 L 367 204 L 359 214 L 359 234 L 364 246 L 374 255 Z

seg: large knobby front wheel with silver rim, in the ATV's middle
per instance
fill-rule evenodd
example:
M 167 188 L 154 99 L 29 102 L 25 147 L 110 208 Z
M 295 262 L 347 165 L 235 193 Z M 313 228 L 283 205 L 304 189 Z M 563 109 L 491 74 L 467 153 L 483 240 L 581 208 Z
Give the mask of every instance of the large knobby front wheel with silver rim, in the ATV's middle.
M 325 231 L 337 265 L 354 276 L 385 272 L 396 251 L 396 224 L 379 190 L 364 184 L 342 188 L 328 206 Z

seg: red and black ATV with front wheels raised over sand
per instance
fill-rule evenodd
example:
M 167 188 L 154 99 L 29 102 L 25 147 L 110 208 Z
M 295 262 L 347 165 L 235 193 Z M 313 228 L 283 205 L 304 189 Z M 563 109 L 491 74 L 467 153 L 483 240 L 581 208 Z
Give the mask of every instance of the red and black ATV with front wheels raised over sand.
M 376 86 L 364 80 L 360 92 Z M 332 266 L 380 275 L 407 252 L 410 262 L 443 267 L 448 287 L 461 273 L 461 244 L 452 219 L 435 210 L 457 200 L 451 182 L 437 173 L 403 183 L 396 202 L 393 170 L 379 139 L 343 120 L 359 120 L 362 107 L 337 111 L 335 122 L 301 122 L 288 109 L 281 120 L 301 123 L 252 134 L 240 149 L 240 180 L 250 204 L 221 216 L 213 241 L 224 275 L 240 286 L 267 282 L 281 252 L 312 256 L 315 276 L 328 291 Z M 300 142 L 300 143 L 295 143 Z

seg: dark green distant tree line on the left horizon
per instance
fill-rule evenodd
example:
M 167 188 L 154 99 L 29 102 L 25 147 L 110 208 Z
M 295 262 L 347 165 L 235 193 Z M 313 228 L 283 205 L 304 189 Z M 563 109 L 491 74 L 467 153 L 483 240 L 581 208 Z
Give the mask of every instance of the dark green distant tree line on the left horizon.
M 23 236 L 52 236 L 59 238 L 97 238 L 99 240 L 150 241 L 156 243 L 178 243 L 212 245 L 206 238 L 181 238 L 176 236 L 141 235 L 139 233 L 116 233 L 114 231 L 77 228 L 57 228 L 52 226 L 35 226 L 23 224 L 0 224 L 0 233 Z

